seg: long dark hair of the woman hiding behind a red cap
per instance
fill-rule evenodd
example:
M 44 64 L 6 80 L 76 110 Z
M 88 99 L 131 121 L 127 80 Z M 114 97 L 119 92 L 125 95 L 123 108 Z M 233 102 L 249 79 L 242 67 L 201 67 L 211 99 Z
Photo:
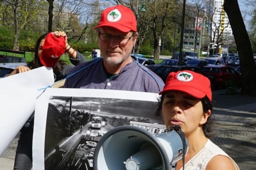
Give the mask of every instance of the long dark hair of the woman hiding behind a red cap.
M 34 56 L 34 59 L 28 63 L 28 67 L 30 69 L 34 69 L 34 68 L 38 68 L 38 67 L 41 67 L 43 66 L 43 64 L 41 63 L 40 59 L 39 59 L 39 56 L 38 56 L 38 48 L 39 48 L 39 45 L 40 45 L 40 42 L 41 40 L 45 39 L 46 36 L 48 35 L 47 34 L 43 34 L 42 36 L 40 36 L 37 41 L 36 41 L 36 45 L 35 45 L 35 56 Z M 67 62 L 66 61 L 63 61 L 61 59 L 59 59 L 59 61 L 57 62 L 56 66 L 53 68 L 53 72 L 54 74 L 60 74 L 60 71 L 63 69 L 64 65 L 66 65 Z

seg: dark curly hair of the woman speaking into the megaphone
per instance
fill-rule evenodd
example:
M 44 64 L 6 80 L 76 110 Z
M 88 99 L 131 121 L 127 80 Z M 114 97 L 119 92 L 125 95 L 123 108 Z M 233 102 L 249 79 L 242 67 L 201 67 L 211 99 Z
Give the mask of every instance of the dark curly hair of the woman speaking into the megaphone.
M 155 112 L 156 116 L 161 116 L 162 115 L 162 105 L 163 105 L 163 101 L 164 101 L 164 96 L 165 96 L 165 93 L 163 93 L 161 98 L 158 99 L 158 108 Z M 202 98 L 201 102 L 202 102 L 202 105 L 203 105 L 203 112 L 206 113 L 206 112 L 208 112 L 208 110 L 210 110 L 211 113 L 212 113 L 213 104 L 208 99 L 208 97 L 205 96 L 204 98 Z M 203 124 L 203 126 L 202 126 L 204 135 L 208 138 L 211 137 L 210 132 L 212 131 L 212 125 L 213 125 L 213 118 L 212 118 L 212 114 L 210 114 L 206 123 Z

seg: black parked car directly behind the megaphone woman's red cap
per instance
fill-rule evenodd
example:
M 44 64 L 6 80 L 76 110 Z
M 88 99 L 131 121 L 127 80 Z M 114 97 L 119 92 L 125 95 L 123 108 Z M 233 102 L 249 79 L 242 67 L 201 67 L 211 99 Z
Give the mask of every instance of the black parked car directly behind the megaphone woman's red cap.
M 206 77 L 208 77 L 204 72 L 199 68 L 195 66 L 186 66 L 182 65 L 181 70 L 191 70 L 196 73 L 202 74 Z M 165 82 L 167 76 L 170 74 L 170 72 L 177 72 L 178 71 L 178 65 L 161 65 L 158 66 L 154 72 Z M 212 77 L 208 77 L 211 82 L 211 88 L 212 90 L 215 89 L 215 80 Z

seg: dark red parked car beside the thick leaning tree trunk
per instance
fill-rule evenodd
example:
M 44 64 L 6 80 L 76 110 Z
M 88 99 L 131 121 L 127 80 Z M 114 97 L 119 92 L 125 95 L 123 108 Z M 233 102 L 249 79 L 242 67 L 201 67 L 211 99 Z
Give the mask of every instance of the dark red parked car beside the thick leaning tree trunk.
M 216 88 L 225 89 L 230 84 L 241 87 L 241 75 L 230 66 L 208 65 L 202 70 L 207 76 L 214 78 Z

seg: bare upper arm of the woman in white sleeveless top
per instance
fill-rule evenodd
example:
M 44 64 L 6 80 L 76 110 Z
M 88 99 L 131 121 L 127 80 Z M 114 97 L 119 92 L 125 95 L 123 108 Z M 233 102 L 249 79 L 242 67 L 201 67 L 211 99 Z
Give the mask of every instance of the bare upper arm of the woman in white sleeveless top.
M 207 164 L 205 170 L 236 170 L 231 159 L 224 155 L 214 156 Z

